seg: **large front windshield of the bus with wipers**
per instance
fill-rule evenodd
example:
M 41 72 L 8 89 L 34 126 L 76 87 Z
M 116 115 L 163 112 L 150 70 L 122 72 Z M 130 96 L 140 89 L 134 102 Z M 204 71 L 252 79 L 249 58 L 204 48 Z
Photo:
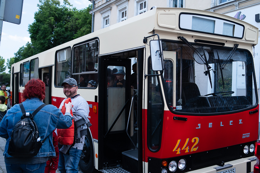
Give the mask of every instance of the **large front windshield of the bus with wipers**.
M 209 114 L 256 105 L 249 51 L 173 42 L 162 47 L 164 92 L 172 110 Z

